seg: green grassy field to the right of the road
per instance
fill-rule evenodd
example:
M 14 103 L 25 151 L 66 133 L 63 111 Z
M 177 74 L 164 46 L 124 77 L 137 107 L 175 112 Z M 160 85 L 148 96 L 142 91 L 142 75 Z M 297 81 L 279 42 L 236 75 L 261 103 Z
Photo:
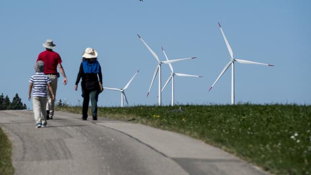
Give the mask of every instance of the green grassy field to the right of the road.
M 186 134 L 277 175 L 311 174 L 310 105 L 100 107 L 98 115 Z

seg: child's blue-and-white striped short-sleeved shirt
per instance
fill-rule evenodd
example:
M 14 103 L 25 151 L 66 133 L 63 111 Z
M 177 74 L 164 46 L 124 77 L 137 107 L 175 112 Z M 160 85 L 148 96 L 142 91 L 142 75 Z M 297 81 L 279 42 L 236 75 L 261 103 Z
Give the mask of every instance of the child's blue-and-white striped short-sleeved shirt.
M 33 83 L 33 97 L 47 97 L 47 85 L 51 83 L 51 79 L 43 72 L 36 72 L 29 79 Z

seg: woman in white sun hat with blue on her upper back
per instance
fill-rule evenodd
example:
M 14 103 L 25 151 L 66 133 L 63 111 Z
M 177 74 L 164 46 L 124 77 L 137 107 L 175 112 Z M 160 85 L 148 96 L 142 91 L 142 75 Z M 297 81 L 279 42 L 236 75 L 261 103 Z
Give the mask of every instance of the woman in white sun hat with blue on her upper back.
M 82 63 L 80 65 L 80 70 L 77 76 L 77 81 L 74 86 L 74 90 L 78 90 L 78 84 L 82 78 L 81 88 L 82 88 L 82 97 L 83 97 L 83 106 L 82 106 L 82 120 L 87 119 L 87 109 L 89 99 L 91 99 L 92 105 L 92 116 L 93 120 L 97 120 L 97 101 L 98 95 L 100 93 L 100 85 L 103 84 L 103 76 L 101 65 L 97 61 L 98 53 L 92 48 L 86 48 L 86 51 L 83 53 Z M 99 80 L 97 78 L 99 77 Z

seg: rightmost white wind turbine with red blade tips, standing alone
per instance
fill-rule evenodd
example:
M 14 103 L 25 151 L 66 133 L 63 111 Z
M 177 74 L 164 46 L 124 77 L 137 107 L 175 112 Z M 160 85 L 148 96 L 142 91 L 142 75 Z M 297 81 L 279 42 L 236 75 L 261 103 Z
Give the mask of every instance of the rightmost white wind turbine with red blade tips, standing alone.
M 264 64 L 264 63 L 257 63 L 257 62 L 253 62 L 253 61 L 246 61 L 246 60 L 241 60 L 241 59 L 235 59 L 233 57 L 233 52 L 232 49 L 225 37 L 224 31 L 220 25 L 220 23 L 218 22 L 218 25 L 220 27 L 220 31 L 222 32 L 224 39 L 225 39 L 225 44 L 227 45 L 228 51 L 230 53 L 231 56 L 231 60 L 230 62 L 225 65 L 225 68 L 223 69 L 223 71 L 220 73 L 220 75 L 218 76 L 218 78 L 216 79 L 216 81 L 214 82 L 214 84 L 209 88 L 208 91 L 210 91 L 210 89 L 213 88 L 213 86 L 217 83 L 217 81 L 220 79 L 220 77 L 225 73 L 225 71 L 229 68 L 230 65 L 232 65 L 232 73 L 231 73 L 231 105 L 234 105 L 234 62 L 238 62 L 238 63 L 242 63 L 242 64 L 257 64 L 257 65 L 264 65 L 264 66 L 273 66 L 270 64 Z

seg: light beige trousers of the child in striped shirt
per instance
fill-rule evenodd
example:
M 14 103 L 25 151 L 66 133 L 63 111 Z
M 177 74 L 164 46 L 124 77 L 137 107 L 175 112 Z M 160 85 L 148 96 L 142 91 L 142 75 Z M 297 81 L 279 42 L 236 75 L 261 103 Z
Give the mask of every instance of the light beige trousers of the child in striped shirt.
M 35 123 L 41 122 L 42 124 L 47 123 L 47 111 L 45 106 L 47 104 L 46 97 L 33 97 L 33 108 L 35 115 Z

